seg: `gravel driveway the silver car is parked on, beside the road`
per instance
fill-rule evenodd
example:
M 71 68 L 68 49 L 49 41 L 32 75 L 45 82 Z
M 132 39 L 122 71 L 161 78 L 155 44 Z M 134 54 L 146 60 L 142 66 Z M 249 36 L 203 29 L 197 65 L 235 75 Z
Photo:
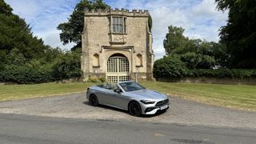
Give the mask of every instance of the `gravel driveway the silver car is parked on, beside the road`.
M 170 98 L 166 113 L 140 118 L 126 111 L 108 106 L 90 106 L 84 94 L 68 94 L 48 98 L 34 98 L 13 102 L 0 102 L 0 113 L 31 114 L 64 118 L 87 118 L 102 121 L 128 120 L 148 122 L 171 122 L 178 125 L 204 125 L 256 128 L 256 113 L 209 106 L 181 98 Z

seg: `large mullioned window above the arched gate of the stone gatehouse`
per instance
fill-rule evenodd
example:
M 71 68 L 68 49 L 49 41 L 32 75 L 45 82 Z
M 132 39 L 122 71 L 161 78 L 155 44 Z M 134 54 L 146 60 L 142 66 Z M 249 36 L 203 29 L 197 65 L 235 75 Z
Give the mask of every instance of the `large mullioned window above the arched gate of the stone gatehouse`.
M 126 18 L 112 17 L 112 33 L 126 33 Z

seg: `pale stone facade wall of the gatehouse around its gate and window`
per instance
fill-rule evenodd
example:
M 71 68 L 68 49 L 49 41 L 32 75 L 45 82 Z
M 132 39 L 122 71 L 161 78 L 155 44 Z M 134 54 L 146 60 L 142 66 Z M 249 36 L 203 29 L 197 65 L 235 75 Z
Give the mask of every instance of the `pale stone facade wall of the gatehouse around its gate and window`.
M 126 33 L 111 32 L 111 17 L 126 18 Z M 152 79 L 154 53 L 152 34 L 148 27 L 148 10 L 85 10 L 82 34 L 81 68 L 88 75 L 106 74 L 106 63 L 112 54 L 123 54 L 130 63 L 130 74 L 144 73 Z M 99 56 L 99 66 L 92 65 L 93 55 Z M 136 56 L 142 55 L 142 66 L 136 66 Z M 150 78 L 149 78 L 150 76 Z M 142 77 L 144 78 L 144 77 Z

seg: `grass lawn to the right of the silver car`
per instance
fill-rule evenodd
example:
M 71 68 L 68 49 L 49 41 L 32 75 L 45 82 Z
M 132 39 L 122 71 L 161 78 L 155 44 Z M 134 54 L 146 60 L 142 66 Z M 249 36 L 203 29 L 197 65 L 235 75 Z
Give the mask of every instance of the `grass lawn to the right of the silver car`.
M 210 105 L 256 111 L 256 86 L 140 82 L 149 89 Z

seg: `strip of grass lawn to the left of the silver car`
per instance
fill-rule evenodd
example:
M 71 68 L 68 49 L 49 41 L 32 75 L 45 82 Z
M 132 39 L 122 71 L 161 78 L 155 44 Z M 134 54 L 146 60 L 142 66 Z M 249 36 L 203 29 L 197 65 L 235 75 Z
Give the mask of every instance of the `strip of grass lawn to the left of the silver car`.
M 0 85 L 0 102 L 38 98 L 60 94 L 79 93 L 94 85 L 85 82 L 42 83 L 33 85 Z

